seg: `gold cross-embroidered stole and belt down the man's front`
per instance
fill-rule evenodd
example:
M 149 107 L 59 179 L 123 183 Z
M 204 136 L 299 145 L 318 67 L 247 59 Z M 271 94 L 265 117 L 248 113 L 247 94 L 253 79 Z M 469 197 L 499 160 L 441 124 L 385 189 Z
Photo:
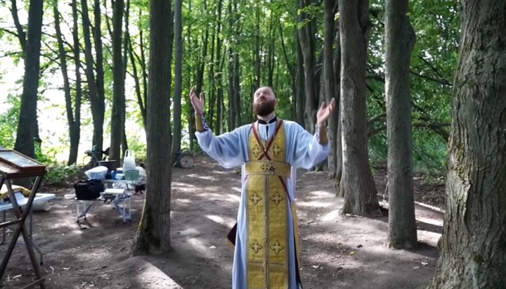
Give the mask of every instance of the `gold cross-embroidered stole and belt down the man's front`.
M 293 213 L 294 209 L 290 209 L 286 186 L 291 167 L 286 162 L 285 129 L 283 121 L 278 120 L 274 136 L 263 141 L 257 134 L 257 123 L 253 125 L 249 136 L 250 161 L 245 165 L 247 289 L 287 289 L 288 238 L 293 238 L 288 234 L 288 212 L 292 210 Z M 297 213 L 294 218 L 297 218 Z M 297 226 L 294 230 L 298 232 L 297 221 L 294 223 Z M 296 241 L 297 252 L 298 243 Z

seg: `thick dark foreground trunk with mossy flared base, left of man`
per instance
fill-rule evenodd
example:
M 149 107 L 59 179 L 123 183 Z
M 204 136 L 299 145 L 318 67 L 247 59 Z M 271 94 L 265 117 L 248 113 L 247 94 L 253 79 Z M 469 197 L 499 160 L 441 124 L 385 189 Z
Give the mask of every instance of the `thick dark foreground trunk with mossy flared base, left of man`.
M 170 0 L 150 0 L 148 184 L 132 255 L 171 250 L 171 17 Z

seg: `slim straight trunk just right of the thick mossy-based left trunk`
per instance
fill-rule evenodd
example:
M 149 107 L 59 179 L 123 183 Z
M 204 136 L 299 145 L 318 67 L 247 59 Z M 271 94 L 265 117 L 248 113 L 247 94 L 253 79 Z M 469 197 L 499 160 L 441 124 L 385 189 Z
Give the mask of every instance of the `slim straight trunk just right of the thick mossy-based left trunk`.
M 172 138 L 172 154 L 181 150 L 181 94 L 183 94 L 183 18 L 181 10 L 183 0 L 174 4 L 174 32 L 176 36 L 176 79 L 174 79 L 174 136 Z

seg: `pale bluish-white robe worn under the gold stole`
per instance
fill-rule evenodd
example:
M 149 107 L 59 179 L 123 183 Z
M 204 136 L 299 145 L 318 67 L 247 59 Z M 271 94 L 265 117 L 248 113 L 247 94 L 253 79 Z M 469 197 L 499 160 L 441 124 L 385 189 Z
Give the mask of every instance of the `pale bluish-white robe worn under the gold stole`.
M 267 140 L 275 134 L 276 124 L 280 120 L 268 124 L 246 124 L 238 127 L 231 132 L 214 136 L 210 129 L 205 131 L 197 131 L 197 141 L 202 150 L 219 162 L 225 168 L 242 167 L 242 194 L 238 210 L 238 226 L 235 239 L 235 253 L 233 259 L 233 283 L 232 289 L 257 289 L 247 288 L 247 250 L 250 250 L 247 244 L 247 215 L 246 206 L 247 194 L 245 193 L 245 185 L 248 181 L 245 175 L 245 163 L 249 162 L 249 139 L 252 134 L 253 125 L 258 125 L 258 136 Z M 311 169 L 318 165 L 327 157 L 330 150 L 330 142 L 320 144 L 320 137 L 317 133 L 312 135 L 306 131 L 297 122 L 283 120 L 283 129 L 286 136 L 286 161 L 291 165 L 290 179 L 287 179 L 286 186 L 290 206 L 294 205 L 295 188 L 297 178 L 297 168 Z M 326 137 L 326 136 L 325 136 Z M 292 211 L 288 210 L 288 234 L 294 236 L 294 222 Z M 297 230 L 298 231 L 298 230 Z M 295 237 L 295 236 L 294 236 Z M 298 238 L 298 236 L 297 236 Z M 295 250 L 294 238 L 288 239 L 288 263 L 289 277 L 288 289 L 299 289 L 301 284 L 297 281 L 297 256 Z M 298 264 L 299 268 L 301 264 Z M 278 289 L 278 288 L 265 288 Z

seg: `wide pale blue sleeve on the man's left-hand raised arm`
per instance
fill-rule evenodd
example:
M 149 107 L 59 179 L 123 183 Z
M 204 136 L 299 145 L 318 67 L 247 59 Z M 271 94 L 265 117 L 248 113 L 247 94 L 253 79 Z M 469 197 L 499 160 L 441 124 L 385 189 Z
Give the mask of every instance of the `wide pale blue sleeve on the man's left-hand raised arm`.
M 212 130 L 205 124 L 204 117 L 202 117 L 202 122 L 202 129 L 199 129 L 200 125 L 197 121 L 197 131 L 195 131 L 200 148 L 227 169 L 242 165 L 244 160 L 239 129 L 214 136 Z

